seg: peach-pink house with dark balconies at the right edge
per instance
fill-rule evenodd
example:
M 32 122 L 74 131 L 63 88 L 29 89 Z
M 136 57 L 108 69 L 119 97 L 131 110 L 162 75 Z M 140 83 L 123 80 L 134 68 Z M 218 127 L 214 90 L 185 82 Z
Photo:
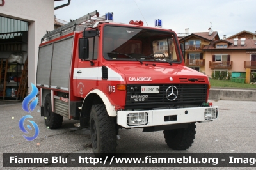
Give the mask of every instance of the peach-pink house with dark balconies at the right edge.
M 205 45 L 205 74 L 215 71 L 246 72 L 246 82 L 250 82 L 251 72 L 256 72 L 255 34 L 241 31 L 225 40 L 213 40 Z

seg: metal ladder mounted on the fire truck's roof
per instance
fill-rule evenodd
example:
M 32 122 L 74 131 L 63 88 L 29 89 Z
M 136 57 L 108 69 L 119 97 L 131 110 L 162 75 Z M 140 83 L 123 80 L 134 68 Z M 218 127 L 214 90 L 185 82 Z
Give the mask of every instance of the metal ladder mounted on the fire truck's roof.
M 58 27 L 53 31 L 47 31 L 47 33 L 43 36 L 41 43 L 44 40 L 51 40 L 53 36 L 62 36 L 63 33 L 76 31 L 76 26 L 93 26 L 95 22 L 103 22 L 104 20 L 104 15 L 99 15 L 99 12 L 95 10 L 94 12 L 88 13 L 79 19 L 72 20 L 70 23 L 65 24 L 64 26 Z

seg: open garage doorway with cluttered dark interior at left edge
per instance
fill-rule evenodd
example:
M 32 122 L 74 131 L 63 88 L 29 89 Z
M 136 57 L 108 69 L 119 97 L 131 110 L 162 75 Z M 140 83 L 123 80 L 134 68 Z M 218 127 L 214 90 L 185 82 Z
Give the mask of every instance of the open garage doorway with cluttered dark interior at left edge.
M 28 93 L 28 22 L 0 16 L 0 100 Z

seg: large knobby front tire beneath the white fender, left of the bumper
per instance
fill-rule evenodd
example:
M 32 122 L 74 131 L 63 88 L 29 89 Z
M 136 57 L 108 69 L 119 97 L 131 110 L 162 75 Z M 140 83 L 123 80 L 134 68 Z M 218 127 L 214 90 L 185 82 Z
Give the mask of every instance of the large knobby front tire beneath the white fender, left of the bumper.
M 90 134 L 93 152 L 96 157 L 104 153 L 116 152 L 116 123 L 115 117 L 108 116 L 104 104 L 95 104 L 90 113 Z

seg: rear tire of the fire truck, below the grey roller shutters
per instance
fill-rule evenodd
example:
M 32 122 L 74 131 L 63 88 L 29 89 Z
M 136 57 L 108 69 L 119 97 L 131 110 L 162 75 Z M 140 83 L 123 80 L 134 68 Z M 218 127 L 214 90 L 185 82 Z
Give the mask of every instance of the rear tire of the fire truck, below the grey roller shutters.
M 44 100 L 45 125 L 51 129 L 61 128 L 63 116 L 52 112 L 51 94 L 46 95 Z

